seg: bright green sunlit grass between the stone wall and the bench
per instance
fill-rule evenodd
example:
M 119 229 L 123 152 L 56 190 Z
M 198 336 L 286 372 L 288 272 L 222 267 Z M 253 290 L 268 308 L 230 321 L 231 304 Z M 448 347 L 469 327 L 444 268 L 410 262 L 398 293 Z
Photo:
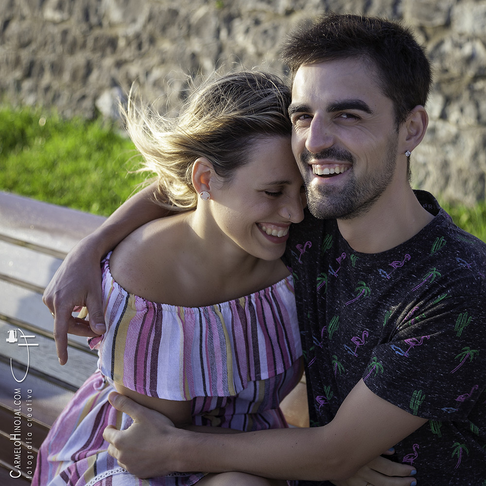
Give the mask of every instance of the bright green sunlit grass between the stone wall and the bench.
M 108 216 L 143 181 L 135 147 L 101 120 L 0 107 L 0 190 Z M 440 200 L 440 197 L 439 197 Z M 486 241 L 486 203 L 443 204 L 454 222 Z

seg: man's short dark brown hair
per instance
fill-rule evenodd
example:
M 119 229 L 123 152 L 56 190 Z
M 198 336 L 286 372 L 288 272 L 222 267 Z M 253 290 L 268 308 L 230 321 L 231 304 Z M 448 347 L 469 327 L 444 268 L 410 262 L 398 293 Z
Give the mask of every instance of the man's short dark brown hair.
M 408 28 L 379 17 L 324 14 L 301 26 L 282 45 L 281 59 L 295 75 L 302 65 L 360 59 L 378 69 L 383 94 L 395 106 L 397 125 L 425 106 L 431 63 Z

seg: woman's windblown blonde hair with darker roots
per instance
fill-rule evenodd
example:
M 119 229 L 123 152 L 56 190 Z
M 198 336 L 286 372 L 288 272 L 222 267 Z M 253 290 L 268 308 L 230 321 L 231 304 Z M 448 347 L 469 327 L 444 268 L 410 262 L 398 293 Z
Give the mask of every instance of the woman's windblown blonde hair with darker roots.
M 156 174 L 158 202 L 188 209 L 197 203 L 193 162 L 206 157 L 216 174 L 230 183 L 234 171 L 249 161 L 254 141 L 290 136 L 289 103 L 289 87 L 280 78 L 242 71 L 194 89 L 176 118 L 135 103 L 132 92 L 122 115 L 143 156 L 140 170 Z

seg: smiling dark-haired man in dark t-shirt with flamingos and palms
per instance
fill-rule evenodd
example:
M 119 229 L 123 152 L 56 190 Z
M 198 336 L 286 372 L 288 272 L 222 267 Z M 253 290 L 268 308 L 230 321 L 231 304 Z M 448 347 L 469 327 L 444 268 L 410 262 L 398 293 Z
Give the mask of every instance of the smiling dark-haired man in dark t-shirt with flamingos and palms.
M 135 424 L 105 431 L 109 451 L 142 477 L 244 471 L 330 484 L 395 447 L 419 484 L 483 485 L 486 245 L 410 186 L 429 61 L 398 24 L 335 14 L 292 34 L 283 60 L 308 199 L 286 258 L 312 427 L 195 434 L 115 396 Z

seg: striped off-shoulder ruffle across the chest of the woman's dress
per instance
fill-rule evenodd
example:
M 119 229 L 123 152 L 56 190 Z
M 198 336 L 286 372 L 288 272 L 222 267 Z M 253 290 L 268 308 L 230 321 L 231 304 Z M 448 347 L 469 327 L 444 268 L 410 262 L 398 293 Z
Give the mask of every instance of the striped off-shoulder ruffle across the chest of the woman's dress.
M 90 340 L 110 381 L 161 399 L 231 397 L 302 355 L 291 276 L 221 304 L 179 307 L 126 292 L 110 273 L 110 255 L 103 290 L 111 325 Z

